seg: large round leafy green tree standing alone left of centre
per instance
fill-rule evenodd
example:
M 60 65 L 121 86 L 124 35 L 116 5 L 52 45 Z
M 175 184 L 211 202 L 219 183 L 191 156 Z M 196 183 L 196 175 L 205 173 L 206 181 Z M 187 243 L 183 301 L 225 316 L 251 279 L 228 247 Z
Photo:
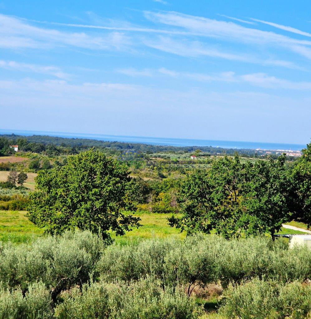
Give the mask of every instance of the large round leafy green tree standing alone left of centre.
M 68 157 L 63 167 L 40 171 L 30 194 L 29 219 L 49 234 L 88 229 L 110 238 L 123 235 L 139 218 L 122 213 L 130 182 L 126 165 L 99 151 Z

